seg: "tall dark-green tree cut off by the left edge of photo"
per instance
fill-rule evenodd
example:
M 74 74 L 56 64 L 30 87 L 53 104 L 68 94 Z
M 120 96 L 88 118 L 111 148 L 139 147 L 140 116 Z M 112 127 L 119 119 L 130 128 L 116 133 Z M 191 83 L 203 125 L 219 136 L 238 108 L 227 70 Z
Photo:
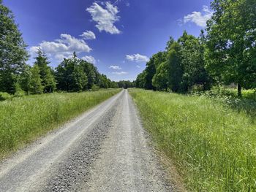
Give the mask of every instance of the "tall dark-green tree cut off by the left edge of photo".
M 0 91 L 15 93 L 15 83 L 29 55 L 14 15 L 2 1 L 0 20 Z

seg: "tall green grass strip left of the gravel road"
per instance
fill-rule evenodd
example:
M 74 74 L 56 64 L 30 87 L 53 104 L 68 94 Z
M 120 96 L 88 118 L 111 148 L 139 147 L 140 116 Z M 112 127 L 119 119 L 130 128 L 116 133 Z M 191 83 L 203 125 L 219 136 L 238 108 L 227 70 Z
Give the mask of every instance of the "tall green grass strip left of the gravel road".
M 0 158 L 119 91 L 51 93 L 0 101 Z

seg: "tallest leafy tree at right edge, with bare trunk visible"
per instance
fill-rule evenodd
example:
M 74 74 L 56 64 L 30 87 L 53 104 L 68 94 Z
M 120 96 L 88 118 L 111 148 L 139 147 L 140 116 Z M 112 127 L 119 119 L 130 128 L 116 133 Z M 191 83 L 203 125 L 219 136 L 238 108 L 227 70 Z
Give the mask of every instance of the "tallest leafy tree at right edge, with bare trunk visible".
M 207 69 L 219 83 L 252 88 L 256 82 L 256 1 L 214 0 L 207 23 Z

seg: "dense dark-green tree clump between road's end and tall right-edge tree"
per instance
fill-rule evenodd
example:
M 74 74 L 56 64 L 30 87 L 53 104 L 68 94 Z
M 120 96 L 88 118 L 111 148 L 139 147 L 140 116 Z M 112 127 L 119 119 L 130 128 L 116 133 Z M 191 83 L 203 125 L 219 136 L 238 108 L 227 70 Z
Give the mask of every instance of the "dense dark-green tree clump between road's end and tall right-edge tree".
M 153 55 L 145 71 L 138 75 L 136 86 L 159 91 L 169 88 L 179 93 L 188 92 L 194 85 L 201 85 L 203 90 L 210 88 L 211 78 L 205 68 L 200 38 L 186 31 L 177 42 L 170 37 L 166 50 Z

